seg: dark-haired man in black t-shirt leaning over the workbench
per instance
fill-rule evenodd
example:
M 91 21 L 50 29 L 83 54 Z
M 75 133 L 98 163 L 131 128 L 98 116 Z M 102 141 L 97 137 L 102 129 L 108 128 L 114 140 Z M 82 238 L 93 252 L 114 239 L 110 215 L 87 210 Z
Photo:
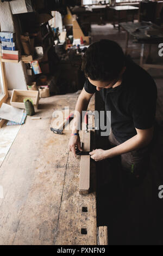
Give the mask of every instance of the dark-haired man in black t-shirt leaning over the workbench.
M 97 91 L 111 111 L 110 144 L 108 150 L 90 152 L 95 161 L 121 155 L 123 169 L 139 177 L 145 170 L 149 146 L 153 139 L 156 106 L 156 85 L 151 76 L 124 56 L 114 41 L 101 40 L 87 49 L 83 58 L 86 82 L 76 110 L 87 109 Z M 75 120 L 74 120 L 75 121 Z M 75 154 L 80 148 L 78 130 L 73 129 L 69 149 Z

